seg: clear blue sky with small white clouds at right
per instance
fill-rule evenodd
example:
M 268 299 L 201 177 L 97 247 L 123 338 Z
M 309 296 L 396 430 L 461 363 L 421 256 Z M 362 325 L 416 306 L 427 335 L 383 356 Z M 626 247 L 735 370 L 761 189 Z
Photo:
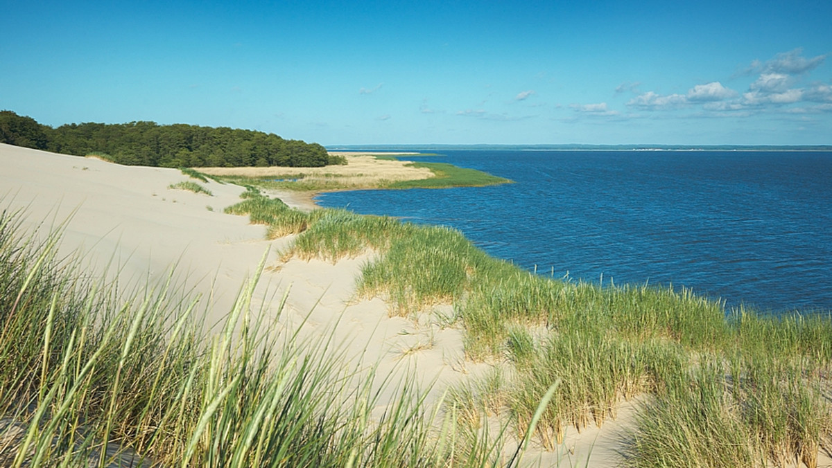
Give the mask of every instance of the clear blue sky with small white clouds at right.
M 581 3 L 581 4 L 577 4 Z M 0 0 L 0 109 L 340 144 L 832 144 L 832 2 Z

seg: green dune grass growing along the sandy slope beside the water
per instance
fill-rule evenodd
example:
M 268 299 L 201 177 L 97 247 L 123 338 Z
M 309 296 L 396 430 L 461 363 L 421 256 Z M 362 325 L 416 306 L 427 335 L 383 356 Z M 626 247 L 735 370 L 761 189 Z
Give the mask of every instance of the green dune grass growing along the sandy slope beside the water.
M 497 417 L 522 439 L 535 421 L 533 440 L 554 450 L 567 428 L 601 426 L 637 397 L 627 466 L 815 466 L 832 450 L 829 315 L 726 313 L 684 288 L 545 278 L 453 229 L 343 210 L 300 215 L 306 227 L 285 258 L 373 249 L 359 297 L 386 298 L 404 317 L 453 305 L 453 317 L 437 320 L 463 328 L 468 358 L 497 369 L 449 394 L 446 410 L 467 433 Z

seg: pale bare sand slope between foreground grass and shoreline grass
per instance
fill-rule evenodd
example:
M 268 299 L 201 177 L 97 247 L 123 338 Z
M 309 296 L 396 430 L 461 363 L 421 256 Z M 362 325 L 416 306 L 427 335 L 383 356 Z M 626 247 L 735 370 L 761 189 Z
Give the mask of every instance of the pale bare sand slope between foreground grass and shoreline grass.
M 300 336 L 310 339 L 332 333 L 349 366 L 377 365 L 380 377 L 412 370 L 424 387 L 436 382 L 433 395 L 477 369 L 464 361 L 457 329 L 389 318 L 378 298 L 353 300 L 355 277 L 369 254 L 338 264 L 297 259 L 280 264 L 278 251 L 290 239 L 265 240 L 264 226 L 223 214 L 226 206 L 240 201 L 242 188 L 201 184 L 213 196 L 168 188 L 182 180 L 188 177 L 179 170 L 0 144 L 0 209 L 25 209 L 27 229 L 41 224 L 47 231 L 67 221 L 61 252 L 80 253 L 91 274 L 107 269 L 109 278 L 117 275 L 123 287 L 135 287 L 161 281 L 176 264 L 176 278 L 203 295 L 206 323 L 213 324 L 228 313 L 240 286 L 268 252 L 269 268 L 253 303 L 275 315 L 289 290 L 280 326 L 303 323 Z M 387 394 L 393 393 L 391 386 Z

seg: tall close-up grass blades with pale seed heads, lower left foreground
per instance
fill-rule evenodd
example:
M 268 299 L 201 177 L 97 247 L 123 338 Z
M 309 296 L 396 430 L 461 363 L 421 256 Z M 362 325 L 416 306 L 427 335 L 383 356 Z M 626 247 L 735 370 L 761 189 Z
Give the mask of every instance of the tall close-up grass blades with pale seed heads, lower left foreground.
M 124 297 L 19 216 L 0 214 L 0 465 L 498 464 L 499 445 L 456 443 L 412 382 L 374 420 L 374 376 L 344 369 L 325 337 L 255 333 L 280 329 L 251 308 L 262 263 L 206 337 L 171 277 Z

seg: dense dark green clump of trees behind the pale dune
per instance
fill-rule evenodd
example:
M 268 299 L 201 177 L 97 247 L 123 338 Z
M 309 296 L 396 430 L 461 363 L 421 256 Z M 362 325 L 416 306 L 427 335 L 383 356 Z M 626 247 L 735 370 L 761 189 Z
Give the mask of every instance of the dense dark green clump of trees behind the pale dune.
M 161 126 L 151 121 L 52 128 L 12 111 L 0 111 L 0 142 L 66 155 L 102 155 L 124 165 L 319 167 L 344 163 L 343 157 L 327 155 L 317 143 L 284 140 L 262 131 Z

